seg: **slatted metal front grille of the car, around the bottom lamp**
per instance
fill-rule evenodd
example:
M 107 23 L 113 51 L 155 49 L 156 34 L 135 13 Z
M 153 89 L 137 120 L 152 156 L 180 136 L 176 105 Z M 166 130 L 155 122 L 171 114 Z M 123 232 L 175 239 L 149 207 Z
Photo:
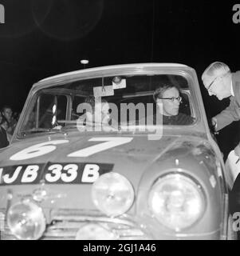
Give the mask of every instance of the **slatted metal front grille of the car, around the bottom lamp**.
M 88 223 L 108 228 L 119 239 L 149 239 L 144 230 L 126 217 L 108 218 L 97 211 L 89 214 L 82 210 L 54 210 L 51 218 L 52 222 L 41 239 L 75 239 L 77 231 Z

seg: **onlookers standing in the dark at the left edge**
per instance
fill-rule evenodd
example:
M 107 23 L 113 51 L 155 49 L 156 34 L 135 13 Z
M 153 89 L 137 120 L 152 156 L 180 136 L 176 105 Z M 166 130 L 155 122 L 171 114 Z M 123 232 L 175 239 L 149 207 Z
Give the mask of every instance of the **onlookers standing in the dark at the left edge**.
M 3 106 L 0 112 L 0 148 L 8 146 L 14 134 L 19 114 L 10 106 Z

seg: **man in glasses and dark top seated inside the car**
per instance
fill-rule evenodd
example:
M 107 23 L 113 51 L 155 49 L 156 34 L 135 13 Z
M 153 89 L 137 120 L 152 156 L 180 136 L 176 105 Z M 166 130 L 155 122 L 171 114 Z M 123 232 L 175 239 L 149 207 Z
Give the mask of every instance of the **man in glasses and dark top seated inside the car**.
M 179 89 L 172 84 L 164 84 L 155 90 L 153 94 L 155 103 L 159 106 L 157 114 L 163 116 L 163 125 L 189 125 L 194 119 L 191 116 L 179 113 L 182 102 Z M 155 123 L 155 116 L 153 117 Z

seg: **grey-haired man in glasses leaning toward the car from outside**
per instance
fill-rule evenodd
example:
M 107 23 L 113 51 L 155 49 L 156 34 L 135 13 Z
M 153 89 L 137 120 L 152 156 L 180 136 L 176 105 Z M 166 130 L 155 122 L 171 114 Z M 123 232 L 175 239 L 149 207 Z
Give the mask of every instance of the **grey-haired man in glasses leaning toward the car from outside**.
M 217 114 L 212 121 L 215 130 L 221 130 L 231 122 L 240 120 L 240 71 L 231 73 L 229 66 L 222 62 L 213 62 L 202 75 L 203 84 L 209 95 L 215 95 L 219 100 L 230 97 L 230 105 Z M 230 211 L 240 211 L 240 146 L 230 151 L 226 160 L 226 168 L 230 169 L 228 179 L 234 182 L 230 194 Z M 237 178 L 238 177 L 238 178 Z

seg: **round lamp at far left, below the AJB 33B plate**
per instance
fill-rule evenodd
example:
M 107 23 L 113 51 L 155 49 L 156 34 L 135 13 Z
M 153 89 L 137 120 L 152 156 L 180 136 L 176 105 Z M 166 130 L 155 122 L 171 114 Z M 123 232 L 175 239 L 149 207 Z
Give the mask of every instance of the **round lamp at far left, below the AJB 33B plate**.
M 10 206 L 6 219 L 11 232 L 18 239 L 41 238 L 45 231 L 45 216 L 41 207 L 30 201 L 18 202 Z

